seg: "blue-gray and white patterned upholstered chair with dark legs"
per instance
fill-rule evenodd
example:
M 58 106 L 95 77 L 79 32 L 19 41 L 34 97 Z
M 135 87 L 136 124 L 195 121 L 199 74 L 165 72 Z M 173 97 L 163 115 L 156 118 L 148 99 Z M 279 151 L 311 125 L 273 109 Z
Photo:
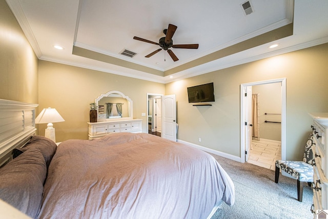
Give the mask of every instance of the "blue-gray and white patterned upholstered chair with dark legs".
M 279 173 L 284 171 L 297 180 L 297 200 L 302 202 L 303 184 L 307 182 L 309 186 L 313 183 L 313 152 L 311 146 L 314 145 L 313 133 L 310 134 L 308 142 L 305 145 L 303 161 L 276 161 L 275 182 L 278 183 Z

